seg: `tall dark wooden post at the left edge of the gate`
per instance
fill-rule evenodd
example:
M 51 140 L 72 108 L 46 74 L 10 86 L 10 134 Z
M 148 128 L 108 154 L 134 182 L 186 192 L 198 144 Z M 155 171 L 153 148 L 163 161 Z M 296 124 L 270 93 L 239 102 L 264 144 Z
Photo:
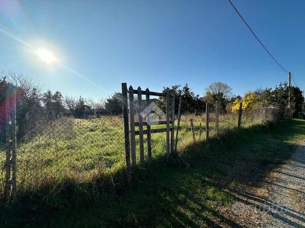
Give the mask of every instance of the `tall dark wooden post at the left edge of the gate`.
M 130 141 L 129 141 L 127 84 L 126 83 L 122 83 L 122 104 L 123 104 L 123 117 L 124 117 L 125 158 L 126 158 L 128 181 L 130 181 Z

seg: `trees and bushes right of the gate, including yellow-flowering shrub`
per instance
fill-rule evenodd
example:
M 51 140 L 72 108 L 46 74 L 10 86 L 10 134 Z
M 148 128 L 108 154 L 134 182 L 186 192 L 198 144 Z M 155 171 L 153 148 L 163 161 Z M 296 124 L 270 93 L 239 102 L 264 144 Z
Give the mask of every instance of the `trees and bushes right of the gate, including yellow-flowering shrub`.
M 278 110 L 277 119 L 281 120 L 285 117 L 285 113 L 289 112 L 291 117 L 301 117 L 304 112 L 304 96 L 299 87 L 288 86 L 286 82 L 280 83 L 275 88 L 256 89 L 255 91 L 247 91 L 243 96 L 232 94 L 232 88 L 223 82 L 214 82 L 205 88 L 205 94 L 200 97 L 189 88 L 187 84 L 182 87 L 174 85 L 171 88 L 163 88 L 163 93 L 169 90 L 170 96 L 173 91 L 176 93 L 175 112 L 178 112 L 178 102 L 181 97 L 183 105 L 182 113 L 200 113 L 204 112 L 206 104 L 213 110 L 215 103 L 218 101 L 219 111 L 222 114 L 237 112 L 239 103 L 242 102 L 242 109 L 250 112 L 254 108 L 276 108 Z M 290 90 L 290 102 L 289 102 Z M 158 106 L 165 111 L 165 97 L 160 97 Z M 171 107 L 171 106 L 170 106 Z

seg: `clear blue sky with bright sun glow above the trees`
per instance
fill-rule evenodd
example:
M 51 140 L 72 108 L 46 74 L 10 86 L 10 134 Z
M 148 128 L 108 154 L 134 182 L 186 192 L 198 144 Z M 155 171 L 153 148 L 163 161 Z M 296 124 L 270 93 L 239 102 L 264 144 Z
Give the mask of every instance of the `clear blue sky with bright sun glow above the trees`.
M 305 87 L 305 1 L 232 0 L 280 64 Z M 34 53 L 46 47 L 51 65 Z M 121 83 L 161 91 L 215 81 L 235 94 L 287 81 L 227 0 L 0 0 L 0 71 L 94 99 Z

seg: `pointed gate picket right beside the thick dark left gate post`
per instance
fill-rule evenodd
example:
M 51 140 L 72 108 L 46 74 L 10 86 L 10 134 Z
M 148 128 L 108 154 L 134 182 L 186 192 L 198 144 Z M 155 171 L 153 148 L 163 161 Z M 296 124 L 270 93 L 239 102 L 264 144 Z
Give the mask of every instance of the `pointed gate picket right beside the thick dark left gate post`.
M 135 153 L 135 134 L 134 134 L 134 99 L 132 86 L 129 87 L 129 119 L 130 119 L 130 149 L 131 149 L 131 164 L 136 165 Z

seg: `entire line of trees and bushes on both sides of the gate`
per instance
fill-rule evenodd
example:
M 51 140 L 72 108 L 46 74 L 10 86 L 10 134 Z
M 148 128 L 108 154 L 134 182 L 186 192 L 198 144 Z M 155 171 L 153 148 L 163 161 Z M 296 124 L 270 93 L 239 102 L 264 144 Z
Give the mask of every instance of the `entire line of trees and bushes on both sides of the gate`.
M 122 114 L 121 92 L 115 92 L 100 101 L 81 96 L 78 98 L 63 96 L 60 91 L 52 92 L 47 90 L 44 92 L 31 78 L 13 72 L 0 76 L 0 109 L 3 109 L 7 95 L 6 91 L 9 87 L 13 87 L 16 91 L 16 121 L 19 134 L 24 134 L 28 130 L 29 123 L 33 122 L 37 115 L 42 113 L 47 113 L 51 116 L 65 114 L 76 118 L 83 118 L 89 115 Z M 239 103 L 242 102 L 242 108 L 246 112 L 258 106 L 263 108 L 272 106 L 280 110 L 279 118 L 283 118 L 284 112 L 288 107 L 289 89 L 291 93 L 291 115 L 292 117 L 299 117 L 303 112 L 304 105 L 302 91 L 298 87 L 292 86 L 289 88 L 287 83 L 280 83 L 274 89 L 266 88 L 248 91 L 244 96 L 233 95 L 232 89 L 223 82 L 215 82 L 209 85 L 205 88 L 205 94 L 202 97 L 194 93 L 188 84 L 182 87 L 180 85 L 164 87 L 162 92 L 165 94 L 169 90 L 171 97 L 173 91 L 175 91 L 176 113 L 178 113 L 178 103 L 179 98 L 181 98 L 183 101 L 181 113 L 202 113 L 206 104 L 211 109 L 215 108 L 217 100 L 219 102 L 219 110 L 223 114 L 236 112 L 237 107 L 239 108 Z M 137 99 L 135 96 L 135 100 Z M 165 97 L 160 97 L 156 103 L 165 112 Z M 3 110 L 1 110 L 1 113 L 3 114 Z M 1 137 L 3 139 L 3 118 L 0 118 L 0 125 L 2 126 Z

